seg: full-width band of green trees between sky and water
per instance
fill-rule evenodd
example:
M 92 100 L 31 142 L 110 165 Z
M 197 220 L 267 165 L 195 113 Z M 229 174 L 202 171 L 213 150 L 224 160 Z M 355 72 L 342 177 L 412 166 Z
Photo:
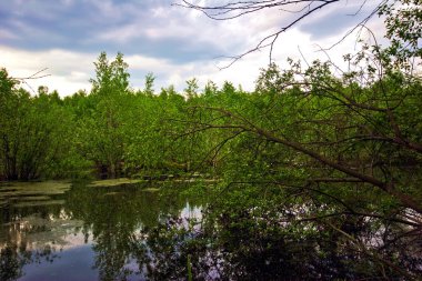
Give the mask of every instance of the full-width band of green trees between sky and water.
M 335 78 L 329 63 L 305 72 L 272 64 L 253 92 L 211 81 L 199 90 L 192 79 L 178 93 L 154 92 L 152 74 L 143 90 L 130 89 L 121 53 L 94 64 L 91 92 L 66 98 L 44 87 L 30 94 L 1 70 L 1 179 L 207 170 L 239 180 L 285 177 L 319 160 L 381 175 L 419 163 L 421 82 L 401 72 L 363 83 L 358 73 Z

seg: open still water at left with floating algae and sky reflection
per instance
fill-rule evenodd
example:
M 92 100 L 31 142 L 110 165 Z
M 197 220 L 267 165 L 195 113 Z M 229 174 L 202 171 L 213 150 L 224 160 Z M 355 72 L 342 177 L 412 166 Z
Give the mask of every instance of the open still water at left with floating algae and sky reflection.
M 202 200 L 179 185 L 2 183 L 0 280 L 144 280 L 145 230 L 201 217 Z

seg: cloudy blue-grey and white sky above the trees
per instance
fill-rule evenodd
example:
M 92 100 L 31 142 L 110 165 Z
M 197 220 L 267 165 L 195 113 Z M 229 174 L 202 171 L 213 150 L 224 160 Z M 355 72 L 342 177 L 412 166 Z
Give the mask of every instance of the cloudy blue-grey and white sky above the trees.
M 178 0 L 1 0 L 0 68 L 26 80 L 30 91 L 47 86 L 62 97 L 90 91 L 94 64 L 101 51 L 113 60 L 118 52 L 129 63 L 130 86 L 142 89 L 144 77 L 155 76 L 154 88 L 173 84 L 181 91 L 197 78 L 200 87 L 225 80 L 253 90 L 260 69 L 269 63 L 269 50 L 253 52 L 227 69 L 224 56 L 253 48 L 262 38 L 291 22 L 298 14 L 268 9 L 230 21 L 214 21 L 203 13 L 172 3 Z M 228 1 L 197 1 L 202 4 Z M 341 63 L 356 49 L 352 34 L 328 53 L 328 48 L 359 23 L 380 0 L 344 0 L 319 10 L 283 33 L 274 44 L 273 60 L 282 68 L 287 58 L 312 61 L 328 56 Z M 364 3 L 361 9 L 362 3 Z M 298 9 L 292 7 L 292 9 Z M 356 11 L 360 11 L 356 16 Z M 374 17 L 371 29 L 382 31 Z

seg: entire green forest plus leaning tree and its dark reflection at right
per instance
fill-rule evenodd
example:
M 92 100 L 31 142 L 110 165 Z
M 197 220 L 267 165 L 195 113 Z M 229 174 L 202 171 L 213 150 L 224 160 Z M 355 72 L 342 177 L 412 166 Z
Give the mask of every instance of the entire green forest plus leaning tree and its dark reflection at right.
M 33 94 L 1 69 L 0 180 L 217 180 L 202 220 L 169 219 L 150 233 L 158 252 L 180 252 L 151 258 L 155 279 L 207 280 L 218 268 L 223 280 L 416 280 L 422 17 L 413 4 L 380 9 L 390 46 L 362 43 L 340 73 L 332 61 L 270 63 L 253 91 L 230 81 L 200 89 L 197 79 L 181 92 L 157 90 L 152 73 L 134 90 L 122 53 L 100 53 L 92 89 L 66 98 L 46 87 Z M 165 237 L 178 239 L 160 243 Z

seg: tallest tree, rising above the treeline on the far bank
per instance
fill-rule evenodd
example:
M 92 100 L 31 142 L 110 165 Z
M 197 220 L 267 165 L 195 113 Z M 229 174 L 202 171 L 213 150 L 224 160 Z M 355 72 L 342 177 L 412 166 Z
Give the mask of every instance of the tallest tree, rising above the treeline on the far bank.
M 90 112 L 81 121 L 81 152 L 109 177 L 117 177 L 123 164 L 125 99 L 129 92 L 128 63 L 118 53 L 109 61 L 102 52 L 94 62 L 97 79 L 91 79 Z

